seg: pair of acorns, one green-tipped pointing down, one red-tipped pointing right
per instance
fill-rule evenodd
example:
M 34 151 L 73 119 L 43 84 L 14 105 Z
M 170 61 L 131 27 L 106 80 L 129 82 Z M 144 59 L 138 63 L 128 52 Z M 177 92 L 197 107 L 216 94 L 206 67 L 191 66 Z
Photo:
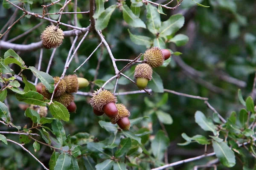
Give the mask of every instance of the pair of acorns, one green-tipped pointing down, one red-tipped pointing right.
M 134 78 L 137 79 L 137 87 L 141 89 L 148 85 L 148 81 L 152 79 L 152 68 L 163 65 L 164 60 L 171 57 L 171 52 L 167 49 L 158 47 L 149 48 L 143 55 L 143 62 L 135 67 Z

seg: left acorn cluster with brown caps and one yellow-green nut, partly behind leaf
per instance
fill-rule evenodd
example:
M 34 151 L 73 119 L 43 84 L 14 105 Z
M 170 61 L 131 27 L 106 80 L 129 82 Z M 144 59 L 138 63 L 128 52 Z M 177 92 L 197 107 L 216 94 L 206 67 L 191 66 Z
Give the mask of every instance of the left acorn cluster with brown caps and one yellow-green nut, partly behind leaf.
M 55 86 L 60 80 L 60 77 L 53 77 L 53 79 Z M 89 82 L 87 79 L 77 77 L 76 74 L 65 76 L 55 88 L 53 99 L 67 107 L 69 112 L 76 112 L 75 97 L 72 93 L 76 93 L 79 88 L 85 88 L 88 85 Z M 35 87 L 38 93 L 42 94 L 47 99 L 51 99 L 52 94 L 43 83 L 40 82 Z

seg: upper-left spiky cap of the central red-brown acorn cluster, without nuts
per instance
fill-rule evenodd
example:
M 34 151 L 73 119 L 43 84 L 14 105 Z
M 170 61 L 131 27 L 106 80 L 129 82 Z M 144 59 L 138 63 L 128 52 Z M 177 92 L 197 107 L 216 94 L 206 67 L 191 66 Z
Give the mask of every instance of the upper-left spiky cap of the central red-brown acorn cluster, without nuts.
M 103 106 L 107 105 L 110 102 L 117 102 L 116 96 L 108 90 L 102 90 L 98 93 L 99 90 L 94 91 L 92 98 L 90 99 L 90 105 L 96 110 L 103 112 Z M 97 94 L 98 93 L 98 94 Z

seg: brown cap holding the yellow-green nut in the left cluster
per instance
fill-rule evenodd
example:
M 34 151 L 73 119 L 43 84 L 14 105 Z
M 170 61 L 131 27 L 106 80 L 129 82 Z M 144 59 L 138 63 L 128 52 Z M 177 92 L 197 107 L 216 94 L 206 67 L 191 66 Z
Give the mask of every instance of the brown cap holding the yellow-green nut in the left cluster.
M 79 85 L 76 74 L 65 76 L 64 81 L 66 82 L 67 93 L 76 93 L 78 91 Z

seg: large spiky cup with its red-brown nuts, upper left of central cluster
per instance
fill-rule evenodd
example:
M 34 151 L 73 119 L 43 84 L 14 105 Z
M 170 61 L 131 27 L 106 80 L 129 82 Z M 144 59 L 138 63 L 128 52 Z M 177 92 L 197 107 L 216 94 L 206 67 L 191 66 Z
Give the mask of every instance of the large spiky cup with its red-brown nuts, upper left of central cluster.
M 99 93 L 98 93 L 99 92 Z M 94 91 L 90 99 L 90 105 L 96 115 L 105 112 L 110 118 L 116 117 L 118 110 L 115 103 L 117 102 L 116 96 L 108 90 Z

